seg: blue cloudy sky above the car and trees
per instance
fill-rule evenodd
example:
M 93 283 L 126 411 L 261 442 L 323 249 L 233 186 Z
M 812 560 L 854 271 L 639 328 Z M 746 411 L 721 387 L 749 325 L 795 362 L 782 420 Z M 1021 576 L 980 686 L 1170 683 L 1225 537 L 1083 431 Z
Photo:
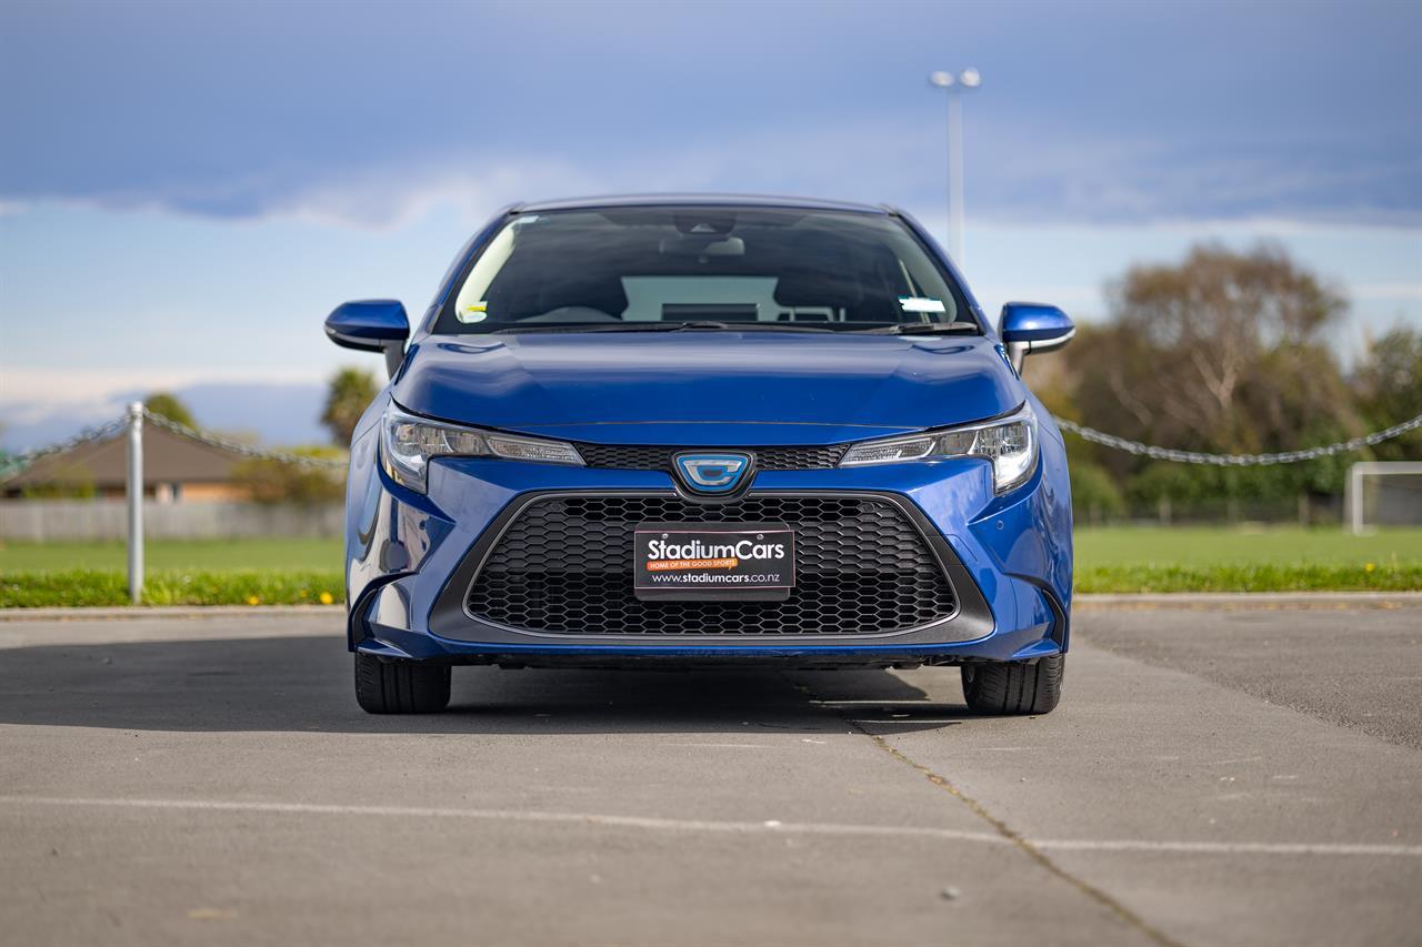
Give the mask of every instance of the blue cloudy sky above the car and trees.
M 10 3 L 0 437 L 151 387 L 314 390 L 364 361 L 336 303 L 421 310 L 515 199 L 811 193 L 941 230 L 924 77 L 966 65 L 985 306 L 1089 320 L 1132 262 L 1266 237 L 1354 299 L 1349 357 L 1422 323 L 1419 40 L 1401 3 Z

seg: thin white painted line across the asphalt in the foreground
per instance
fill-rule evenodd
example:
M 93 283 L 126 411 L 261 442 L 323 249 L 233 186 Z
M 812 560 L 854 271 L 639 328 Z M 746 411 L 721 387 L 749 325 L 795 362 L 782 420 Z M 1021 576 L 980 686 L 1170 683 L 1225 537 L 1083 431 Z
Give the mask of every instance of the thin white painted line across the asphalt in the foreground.
M 870 734 L 872 737 L 872 734 Z M 902 754 L 890 752 L 902 756 Z M 909 762 L 910 766 L 919 768 Z M 966 801 L 966 798 L 964 798 Z M 456 806 L 361 806 L 320 802 L 263 802 L 243 799 L 135 799 L 91 796 L 0 796 L 0 805 L 92 809 L 175 809 L 193 812 L 269 812 L 274 815 L 341 815 L 410 819 L 471 819 L 479 822 L 583 823 L 667 832 L 722 832 L 739 835 L 830 835 L 882 838 L 933 838 L 948 842 L 1018 845 L 1059 852 L 1172 852 L 1192 855 L 1368 855 L 1422 857 L 1422 845 L 1308 843 L 1308 842 L 1155 842 L 1149 839 L 1021 839 L 997 832 L 964 832 L 929 826 L 853 825 L 842 822 L 729 822 L 720 819 L 668 819 L 594 812 L 542 812 L 528 809 L 461 809 Z

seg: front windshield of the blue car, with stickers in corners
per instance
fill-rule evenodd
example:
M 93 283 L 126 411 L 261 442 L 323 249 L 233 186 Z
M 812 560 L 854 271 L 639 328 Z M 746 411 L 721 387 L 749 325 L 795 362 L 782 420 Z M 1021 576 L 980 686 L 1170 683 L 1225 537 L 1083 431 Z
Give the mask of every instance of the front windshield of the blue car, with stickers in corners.
M 518 215 L 434 331 L 563 327 L 980 331 L 896 218 L 734 206 Z

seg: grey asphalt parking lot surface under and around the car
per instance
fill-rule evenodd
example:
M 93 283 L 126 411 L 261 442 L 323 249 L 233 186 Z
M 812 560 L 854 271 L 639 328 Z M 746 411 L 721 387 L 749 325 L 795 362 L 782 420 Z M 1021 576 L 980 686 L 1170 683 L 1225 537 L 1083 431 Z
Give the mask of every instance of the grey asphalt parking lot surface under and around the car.
M 0 624 L 0 943 L 1422 943 L 1422 607 L 1084 609 L 953 668 L 456 668 L 338 619 Z

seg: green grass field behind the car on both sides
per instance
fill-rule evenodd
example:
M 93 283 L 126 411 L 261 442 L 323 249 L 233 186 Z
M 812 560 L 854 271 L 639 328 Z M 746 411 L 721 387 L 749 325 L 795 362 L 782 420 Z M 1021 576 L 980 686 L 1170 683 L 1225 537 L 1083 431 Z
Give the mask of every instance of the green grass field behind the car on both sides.
M 149 604 L 343 597 L 334 539 L 149 542 Z M 0 543 L 0 607 L 124 604 L 122 543 Z M 1078 592 L 1422 590 L 1422 529 L 1099 528 L 1076 532 Z

